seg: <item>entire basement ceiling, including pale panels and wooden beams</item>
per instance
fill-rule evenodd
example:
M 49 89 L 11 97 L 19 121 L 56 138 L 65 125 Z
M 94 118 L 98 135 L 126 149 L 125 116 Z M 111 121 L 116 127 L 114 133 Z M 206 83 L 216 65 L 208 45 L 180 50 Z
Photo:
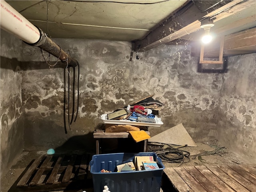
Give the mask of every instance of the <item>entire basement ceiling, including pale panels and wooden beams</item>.
M 255 0 L 6 2 L 50 37 L 132 41 L 136 51 L 182 41 L 188 41 L 200 48 L 200 38 L 204 33 L 200 28 L 200 21 L 211 18 L 215 24 L 211 28 L 215 41 L 218 42 L 220 36 L 228 36 L 229 44 L 226 42 L 224 46 L 228 52 L 224 50 L 224 55 L 256 52 Z M 242 32 L 246 30 L 249 30 L 248 33 Z M 232 36 L 237 33 L 241 35 Z M 240 43 L 231 46 L 230 42 L 236 41 L 237 38 Z M 215 55 L 218 54 L 216 48 L 214 52 Z

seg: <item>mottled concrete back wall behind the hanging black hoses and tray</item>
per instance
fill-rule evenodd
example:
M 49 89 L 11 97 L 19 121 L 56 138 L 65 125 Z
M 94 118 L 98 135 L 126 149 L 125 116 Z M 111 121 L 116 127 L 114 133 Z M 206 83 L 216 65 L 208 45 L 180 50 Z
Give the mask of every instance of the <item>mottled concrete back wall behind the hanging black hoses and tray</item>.
M 25 150 L 82 148 L 95 152 L 92 133 L 101 122 L 100 115 L 150 94 L 165 104 L 158 115 L 164 125 L 150 127 L 152 136 L 183 123 L 195 141 L 216 139 L 223 74 L 198 73 L 199 58 L 191 56 L 189 46 L 163 45 L 140 53 L 139 60 L 134 54 L 130 62 L 129 42 L 54 41 L 80 63 L 78 119 L 65 134 L 64 69 L 58 64 L 49 69 L 39 48 L 23 44 Z

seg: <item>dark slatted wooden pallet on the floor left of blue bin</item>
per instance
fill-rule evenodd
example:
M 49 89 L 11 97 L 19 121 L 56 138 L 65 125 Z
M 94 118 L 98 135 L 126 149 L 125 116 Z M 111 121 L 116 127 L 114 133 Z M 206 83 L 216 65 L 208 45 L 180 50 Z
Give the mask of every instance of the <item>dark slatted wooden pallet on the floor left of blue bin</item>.
M 18 191 L 42 192 L 92 186 L 90 154 L 40 156 L 17 184 Z

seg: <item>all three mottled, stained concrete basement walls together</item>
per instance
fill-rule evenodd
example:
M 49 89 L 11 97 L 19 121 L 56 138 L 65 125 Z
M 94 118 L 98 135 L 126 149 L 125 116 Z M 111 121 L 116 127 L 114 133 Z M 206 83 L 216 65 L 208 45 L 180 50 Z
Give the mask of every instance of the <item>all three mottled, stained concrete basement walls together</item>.
M 255 80 L 255 65 L 250 55 L 230 57 L 228 73 L 201 73 L 197 68 L 199 58 L 191 56 L 189 46 L 162 45 L 139 53 L 139 60 L 134 54 L 130 62 L 129 42 L 60 38 L 54 41 L 80 63 L 79 115 L 68 134 L 64 133 L 62 112 L 65 69 L 59 64 L 49 69 L 39 48 L 1 31 L 1 173 L 8 170 L 22 148 L 95 152 L 92 133 L 100 125 L 100 114 L 149 94 L 155 94 L 154 98 L 165 104 L 158 114 L 164 125 L 150 127 L 152 136 L 183 123 L 196 142 L 218 138 L 233 146 L 234 151 L 239 146 L 239 154 L 241 146 L 247 143 L 246 154 L 255 157 L 255 86 L 247 81 Z M 255 54 L 252 56 L 255 61 Z M 242 58 L 241 62 L 237 63 L 237 58 Z M 51 61 L 54 64 L 56 58 Z M 250 64 L 244 65 L 243 61 Z M 72 77 L 72 70 L 70 73 Z M 248 85 L 246 89 L 240 85 L 240 99 L 235 98 L 235 89 L 228 87 L 236 76 L 243 76 Z M 231 100 L 237 102 L 236 108 L 231 103 L 228 108 Z M 240 124 L 231 124 L 229 114 L 234 114 L 238 118 L 235 124 Z M 228 137 L 230 132 L 236 135 L 236 131 L 248 142 L 240 139 L 233 145 Z

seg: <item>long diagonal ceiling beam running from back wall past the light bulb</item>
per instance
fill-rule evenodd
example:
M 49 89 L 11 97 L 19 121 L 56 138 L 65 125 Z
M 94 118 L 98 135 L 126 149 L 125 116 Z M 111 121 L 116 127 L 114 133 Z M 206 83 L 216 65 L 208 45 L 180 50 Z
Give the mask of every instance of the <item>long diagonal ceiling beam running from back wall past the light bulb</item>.
M 164 24 L 150 32 L 146 38 L 135 42 L 135 51 L 143 52 L 160 44 L 182 38 L 183 36 L 200 29 L 200 20 L 207 17 L 215 17 L 214 22 L 236 14 L 250 6 L 255 6 L 254 1 L 233 0 L 232 2 L 210 12 L 209 14 L 198 11 L 196 6 L 188 4 L 179 12 L 167 20 Z

